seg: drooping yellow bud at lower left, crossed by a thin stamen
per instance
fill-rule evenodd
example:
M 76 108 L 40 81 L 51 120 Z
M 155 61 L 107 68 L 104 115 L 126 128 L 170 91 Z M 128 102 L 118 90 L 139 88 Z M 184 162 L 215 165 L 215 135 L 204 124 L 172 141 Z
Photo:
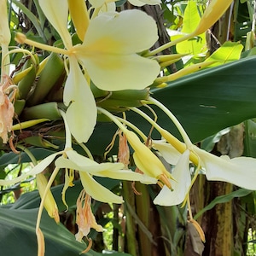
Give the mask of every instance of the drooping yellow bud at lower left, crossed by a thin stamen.
M 42 198 L 48 181 L 43 173 L 38 173 L 38 175 L 36 176 L 36 180 L 37 180 L 38 191 Z M 59 223 L 60 216 L 58 212 L 58 207 L 56 205 L 55 199 L 50 190 L 47 192 L 47 195 L 45 197 L 44 207 L 45 207 L 45 210 L 48 212 L 49 217 L 54 218 L 55 222 Z

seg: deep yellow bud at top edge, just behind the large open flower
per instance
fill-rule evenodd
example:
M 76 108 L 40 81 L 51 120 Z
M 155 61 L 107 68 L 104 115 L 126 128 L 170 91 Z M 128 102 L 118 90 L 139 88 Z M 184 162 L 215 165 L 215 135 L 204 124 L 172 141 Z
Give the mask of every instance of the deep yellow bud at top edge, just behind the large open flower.
M 68 9 L 79 39 L 84 41 L 84 35 L 90 22 L 85 1 L 68 0 Z

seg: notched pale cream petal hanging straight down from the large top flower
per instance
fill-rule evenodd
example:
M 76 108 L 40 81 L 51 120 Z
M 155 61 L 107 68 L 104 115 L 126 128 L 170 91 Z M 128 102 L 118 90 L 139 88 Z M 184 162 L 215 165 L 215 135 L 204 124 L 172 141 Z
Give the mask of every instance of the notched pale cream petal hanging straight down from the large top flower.
M 63 101 L 68 106 L 67 125 L 79 143 L 86 143 L 96 125 L 96 102 L 74 57 L 69 58 L 70 72 L 64 88 Z

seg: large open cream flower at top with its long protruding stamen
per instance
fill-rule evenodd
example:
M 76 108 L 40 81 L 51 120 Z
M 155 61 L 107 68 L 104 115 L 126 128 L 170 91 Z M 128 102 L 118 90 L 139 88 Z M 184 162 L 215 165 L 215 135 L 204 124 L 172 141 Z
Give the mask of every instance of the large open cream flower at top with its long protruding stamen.
M 66 49 L 38 44 L 20 33 L 16 40 L 68 56 L 69 73 L 63 95 L 68 106 L 67 123 L 76 140 L 86 143 L 96 125 L 97 113 L 96 102 L 79 64 L 102 90 L 143 89 L 153 83 L 160 66 L 157 61 L 137 53 L 154 45 L 158 39 L 157 26 L 152 17 L 136 9 L 104 13 L 90 20 L 83 43 L 73 46 L 67 31 L 67 0 L 39 0 L 39 3 Z

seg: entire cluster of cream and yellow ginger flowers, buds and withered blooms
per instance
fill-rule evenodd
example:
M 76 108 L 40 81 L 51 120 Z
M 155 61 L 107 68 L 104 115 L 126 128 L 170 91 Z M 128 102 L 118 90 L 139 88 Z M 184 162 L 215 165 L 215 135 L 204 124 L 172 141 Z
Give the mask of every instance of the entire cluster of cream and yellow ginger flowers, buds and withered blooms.
M 222 11 L 227 9 L 232 1 L 212 1 L 209 9 L 202 17 L 201 24 L 195 32 L 179 38 L 177 41 L 192 38 L 201 32 L 205 32 L 209 26 L 218 20 Z M 6 1 L 0 0 L 0 12 L 6 16 Z M 50 154 L 35 166 L 30 172 L 20 175 L 11 181 L 0 180 L 0 185 L 18 183 L 29 175 L 37 176 L 38 190 L 42 201 L 38 213 L 37 235 L 38 254 L 44 254 L 44 235 L 40 230 L 40 217 L 43 208 L 47 210 L 51 218 L 59 222 L 58 209 L 54 197 L 51 195 L 50 186 L 59 170 L 65 170 L 65 183 L 62 190 L 62 200 L 67 206 L 65 193 L 68 187 L 73 185 L 74 172 L 79 172 L 83 190 L 77 201 L 77 224 L 79 232 L 76 235 L 78 241 L 87 236 L 90 228 L 102 231 L 102 226 L 96 224 L 96 219 L 91 211 L 91 198 L 96 201 L 123 202 L 122 196 L 114 194 L 102 184 L 97 183 L 96 177 L 110 177 L 119 180 L 137 181 L 146 184 L 160 185 L 160 193 L 154 198 L 154 204 L 160 206 L 174 206 L 185 203 L 189 199 L 191 189 L 198 173 L 204 172 L 208 180 L 219 180 L 234 183 L 246 189 L 256 189 L 256 160 L 253 158 L 217 157 L 209 154 L 190 142 L 187 133 L 173 114 L 160 102 L 149 96 L 148 88 L 151 84 L 161 84 L 179 75 L 194 72 L 199 66 L 184 69 L 185 72 L 159 77 L 161 57 L 154 56 L 162 49 L 166 49 L 177 42 L 171 42 L 150 51 L 158 40 L 157 26 L 152 17 L 137 9 L 117 12 L 113 1 L 90 0 L 91 13 L 86 8 L 84 0 L 39 0 L 44 15 L 54 26 L 61 37 L 64 49 L 40 44 L 32 41 L 24 34 L 17 33 L 15 40 L 19 44 L 29 44 L 39 49 L 54 52 L 65 60 L 67 79 L 63 83 L 64 107 L 57 109 L 63 119 L 66 131 L 65 148 L 55 154 Z M 160 4 L 160 1 L 130 0 L 130 3 L 143 6 L 144 4 Z M 216 4 L 221 4 L 221 12 L 216 13 Z M 2 8 L 2 5 L 3 8 Z M 61 8 L 60 8 L 61 7 Z M 76 28 L 79 43 L 74 43 L 72 35 L 67 28 L 69 15 Z M 3 19 L 7 21 L 7 16 Z M 9 26 L 3 22 L 0 24 L 0 44 L 2 52 L 8 54 Z M 166 56 L 165 61 L 170 61 L 171 56 Z M 8 96 L 9 80 L 5 79 L 6 61 L 2 58 L 2 78 L 0 84 L 0 137 L 3 143 L 8 141 L 8 132 L 12 131 L 12 119 L 14 106 L 11 96 Z M 4 62 L 5 61 L 5 62 Z M 204 63 L 201 67 L 207 67 L 211 63 Z M 97 106 L 93 87 L 97 90 L 107 91 L 109 95 L 119 90 L 145 90 L 142 99 L 137 99 L 141 105 L 154 104 L 164 111 L 173 124 L 180 131 L 183 142 L 173 137 L 169 131 L 160 127 L 132 104 L 125 107 L 135 111 L 146 119 L 160 133 L 161 140 L 154 140 L 146 136 L 138 127 L 127 119 L 120 118 L 108 111 L 109 106 L 103 108 Z M 108 95 L 108 96 L 109 96 Z M 107 97 L 108 97 L 107 96 Z M 124 99 L 125 101 L 125 99 Z M 100 105 L 100 104 L 99 104 Z M 87 143 L 93 133 L 98 115 L 104 115 L 113 121 L 119 129 L 119 162 L 97 163 L 93 157 L 79 154 L 73 149 L 73 142 Z M 83 144 L 84 145 L 84 144 Z M 133 150 L 133 160 L 140 172 L 129 169 L 130 152 L 128 145 Z M 86 150 L 85 150 L 86 151 Z M 174 166 L 169 172 L 160 160 L 161 155 L 166 162 Z M 55 170 L 49 181 L 42 174 L 44 169 L 54 162 Z M 194 166 L 191 173 L 190 166 Z M 245 169 L 247 174 L 245 175 Z M 42 176 L 43 175 L 43 176 Z M 67 206 L 68 207 L 68 206 Z M 193 217 L 190 216 L 192 219 Z M 90 247 L 89 247 L 90 249 Z

